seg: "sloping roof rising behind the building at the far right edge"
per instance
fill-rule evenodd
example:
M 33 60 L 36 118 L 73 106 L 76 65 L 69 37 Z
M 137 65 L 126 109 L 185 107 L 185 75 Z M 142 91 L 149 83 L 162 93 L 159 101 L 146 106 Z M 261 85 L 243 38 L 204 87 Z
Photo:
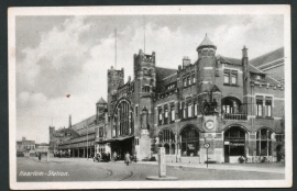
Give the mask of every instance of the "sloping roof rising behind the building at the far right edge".
M 256 58 L 251 59 L 250 63 L 253 66 L 258 67 L 261 65 L 265 65 L 267 63 L 284 58 L 284 54 L 285 54 L 284 50 L 285 50 L 284 47 L 277 48 L 277 49 L 270 52 L 265 55 L 262 55 L 262 56 L 258 56 Z

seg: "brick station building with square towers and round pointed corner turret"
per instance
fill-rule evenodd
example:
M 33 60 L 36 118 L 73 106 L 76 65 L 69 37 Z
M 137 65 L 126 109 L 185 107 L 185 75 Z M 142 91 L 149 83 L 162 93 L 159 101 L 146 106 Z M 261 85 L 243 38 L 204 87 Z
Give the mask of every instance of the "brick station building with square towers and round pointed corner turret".
M 196 50 L 197 60 L 184 57 L 176 69 L 157 67 L 154 52 L 140 50 L 127 82 L 124 69 L 111 67 L 108 100 L 97 104 L 94 121 L 95 151 L 143 159 L 162 146 L 167 161 L 205 162 L 208 143 L 208 159 L 216 162 L 238 162 L 240 156 L 280 160 L 284 86 L 250 64 L 246 47 L 241 58 L 216 55 L 206 36 Z

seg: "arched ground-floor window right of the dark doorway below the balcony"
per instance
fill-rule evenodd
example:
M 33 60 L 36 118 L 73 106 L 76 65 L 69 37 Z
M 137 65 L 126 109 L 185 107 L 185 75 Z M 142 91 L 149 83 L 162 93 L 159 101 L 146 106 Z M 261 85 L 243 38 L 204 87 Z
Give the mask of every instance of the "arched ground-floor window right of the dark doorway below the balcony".
M 256 132 L 256 155 L 271 156 L 272 155 L 272 131 L 268 128 L 261 128 Z

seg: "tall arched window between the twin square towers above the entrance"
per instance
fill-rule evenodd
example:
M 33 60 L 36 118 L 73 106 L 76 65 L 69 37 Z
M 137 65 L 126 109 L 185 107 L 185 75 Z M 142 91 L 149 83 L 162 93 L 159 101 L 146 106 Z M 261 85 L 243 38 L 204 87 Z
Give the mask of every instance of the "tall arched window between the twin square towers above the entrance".
M 128 101 L 118 104 L 113 115 L 113 136 L 129 135 L 133 126 L 133 115 Z

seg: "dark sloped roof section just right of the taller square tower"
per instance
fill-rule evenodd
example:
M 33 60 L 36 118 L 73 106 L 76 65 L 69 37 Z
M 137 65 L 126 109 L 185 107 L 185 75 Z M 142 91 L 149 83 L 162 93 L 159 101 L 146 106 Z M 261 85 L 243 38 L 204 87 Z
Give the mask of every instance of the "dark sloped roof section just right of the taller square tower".
M 165 86 L 174 81 L 176 81 L 176 69 L 156 67 L 156 92 L 164 91 Z

